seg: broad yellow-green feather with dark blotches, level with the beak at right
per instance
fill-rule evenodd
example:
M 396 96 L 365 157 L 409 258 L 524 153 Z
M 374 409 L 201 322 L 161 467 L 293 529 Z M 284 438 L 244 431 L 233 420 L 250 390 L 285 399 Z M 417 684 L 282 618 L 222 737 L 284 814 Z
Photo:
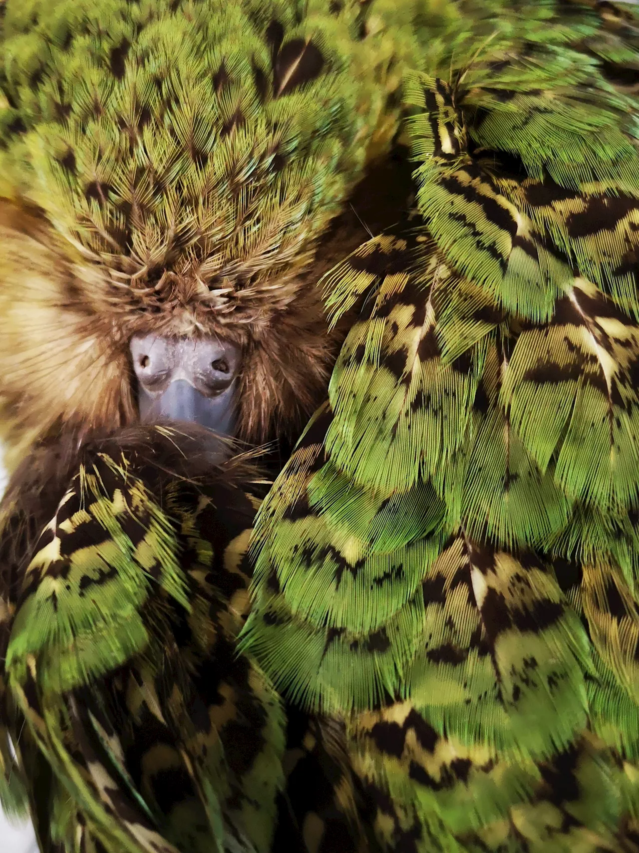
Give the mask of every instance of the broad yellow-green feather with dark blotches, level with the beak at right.
M 377 251 L 383 254 L 382 244 Z M 406 271 L 395 271 L 402 256 Z M 371 286 L 329 387 L 334 419 L 327 453 L 357 483 L 383 494 L 439 473 L 462 444 L 491 328 L 483 326 L 474 347 L 444 362 L 438 297 L 454 281 L 437 256 L 414 275 L 409 258 L 406 241 L 398 241 L 386 268 L 379 265 L 377 287 Z M 374 264 L 374 255 L 362 262 Z

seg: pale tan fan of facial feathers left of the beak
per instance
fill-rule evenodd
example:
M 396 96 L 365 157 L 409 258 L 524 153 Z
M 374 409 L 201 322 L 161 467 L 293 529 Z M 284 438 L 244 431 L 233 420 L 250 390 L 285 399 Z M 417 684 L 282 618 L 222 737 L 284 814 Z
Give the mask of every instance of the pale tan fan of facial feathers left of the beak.
M 125 342 L 81 299 L 72 258 L 37 212 L 0 206 L 0 403 L 6 464 L 61 425 L 135 417 Z

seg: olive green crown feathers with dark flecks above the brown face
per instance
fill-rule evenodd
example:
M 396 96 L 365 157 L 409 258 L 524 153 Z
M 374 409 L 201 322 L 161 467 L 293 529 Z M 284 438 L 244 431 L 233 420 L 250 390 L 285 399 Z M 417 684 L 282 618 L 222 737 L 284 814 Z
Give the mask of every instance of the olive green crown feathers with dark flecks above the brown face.
M 397 124 L 392 34 L 359 40 L 359 3 L 329 5 L 9 3 L 9 191 L 112 269 L 116 296 L 135 276 L 149 299 L 168 264 L 228 307 L 302 260 Z

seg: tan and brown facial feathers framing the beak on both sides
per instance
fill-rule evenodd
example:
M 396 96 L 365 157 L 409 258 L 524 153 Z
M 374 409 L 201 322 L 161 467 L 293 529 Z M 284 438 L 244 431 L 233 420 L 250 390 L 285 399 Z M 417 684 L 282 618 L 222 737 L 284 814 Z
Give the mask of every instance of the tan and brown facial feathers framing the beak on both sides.
M 193 280 L 171 270 L 152 292 L 130 287 L 105 295 L 107 270 L 89 266 L 35 209 L 0 206 L 0 438 L 12 470 L 38 440 L 82 435 L 137 421 L 128 346 L 136 333 L 218 335 L 244 350 L 239 438 L 260 444 L 295 438 L 320 403 L 338 329 L 327 334 L 317 282 L 368 237 L 406 210 L 410 168 L 395 157 L 377 164 L 331 224 L 317 252 L 253 309 L 216 310 Z M 262 280 L 262 287 L 265 287 Z M 117 298 L 119 294 L 119 299 Z

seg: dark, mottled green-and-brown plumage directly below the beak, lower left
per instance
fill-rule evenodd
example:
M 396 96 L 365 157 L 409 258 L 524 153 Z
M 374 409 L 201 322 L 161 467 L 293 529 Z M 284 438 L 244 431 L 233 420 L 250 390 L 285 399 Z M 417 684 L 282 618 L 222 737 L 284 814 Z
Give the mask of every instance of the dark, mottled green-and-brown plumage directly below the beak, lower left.
M 52 771 L 48 806 L 25 773 L 36 815 L 49 812 L 38 840 L 268 851 L 284 717 L 265 676 L 234 656 L 255 508 L 236 484 L 256 475 L 240 460 L 216 468 L 201 438 L 164 428 L 95 442 L 80 460 L 10 578 L 3 621 L 20 765 L 37 749 Z M 53 474 L 38 485 L 54 490 Z M 13 497 L 9 485 L 5 537 L 28 520 Z

